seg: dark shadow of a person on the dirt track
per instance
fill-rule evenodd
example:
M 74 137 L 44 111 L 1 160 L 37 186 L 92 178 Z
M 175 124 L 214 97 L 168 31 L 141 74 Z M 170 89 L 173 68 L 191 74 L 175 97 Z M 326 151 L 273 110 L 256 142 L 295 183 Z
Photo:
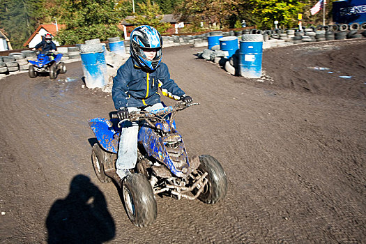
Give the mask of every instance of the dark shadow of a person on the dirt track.
M 71 181 L 68 196 L 52 204 L 46 227 L 50 244 L 103 243 L 116 232 L 104 195 L 82 174 Z

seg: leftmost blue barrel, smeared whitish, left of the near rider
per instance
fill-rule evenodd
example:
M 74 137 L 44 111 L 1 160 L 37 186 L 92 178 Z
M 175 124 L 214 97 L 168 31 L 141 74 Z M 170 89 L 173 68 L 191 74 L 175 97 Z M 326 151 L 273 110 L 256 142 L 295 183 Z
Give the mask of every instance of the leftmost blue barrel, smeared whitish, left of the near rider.
M 85 84 L 88 88 L 103 87 L 108 84 L 107 63 L 104 52 L 80 53 Z

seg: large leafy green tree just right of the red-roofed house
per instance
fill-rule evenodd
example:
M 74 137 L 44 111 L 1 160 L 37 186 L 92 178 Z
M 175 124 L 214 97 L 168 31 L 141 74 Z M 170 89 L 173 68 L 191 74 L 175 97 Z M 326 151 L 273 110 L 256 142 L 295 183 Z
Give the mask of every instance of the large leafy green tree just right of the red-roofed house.
M 111 36 L 122 36 L 117 24 L 121 13 L 114 10 L 112 0 L 58 0 L 54 13 L 59 13 L 60 21 L 66 24 L 56 39 L 61 45 L 84 43 L 85 40 Z

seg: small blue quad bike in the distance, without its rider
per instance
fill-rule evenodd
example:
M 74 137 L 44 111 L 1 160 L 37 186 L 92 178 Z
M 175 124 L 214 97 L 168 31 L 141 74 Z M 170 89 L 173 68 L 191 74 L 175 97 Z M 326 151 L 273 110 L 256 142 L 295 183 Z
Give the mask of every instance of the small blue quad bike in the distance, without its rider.
M 31 63 L 28 70 L 29 77 L 36 78 L 38 73 L 49 73 L 50 79 L 56 79 L 57 72 L 66 73 L 65 63 L 60 62 L 61 57 L 62 54 L 54 56 L 52 52 L 37 52 L 37 61 L 29 61 Z

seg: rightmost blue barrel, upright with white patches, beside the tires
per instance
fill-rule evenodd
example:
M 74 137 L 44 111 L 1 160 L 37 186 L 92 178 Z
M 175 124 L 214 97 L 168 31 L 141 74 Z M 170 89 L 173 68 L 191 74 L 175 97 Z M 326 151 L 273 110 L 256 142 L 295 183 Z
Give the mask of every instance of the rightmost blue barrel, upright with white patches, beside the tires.
M 259 78 L 262 75 L 263 41 L 240 41 L 239 75 Z

